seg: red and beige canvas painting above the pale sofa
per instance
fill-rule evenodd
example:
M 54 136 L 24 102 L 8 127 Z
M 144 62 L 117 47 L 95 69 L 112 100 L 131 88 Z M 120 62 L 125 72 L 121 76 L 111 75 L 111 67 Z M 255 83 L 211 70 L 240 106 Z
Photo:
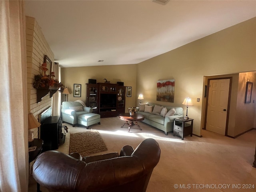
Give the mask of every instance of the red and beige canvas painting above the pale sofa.
M 175 80 L 162 80 L 157 82 L 156 100 L 164 102 L 174 102 Z

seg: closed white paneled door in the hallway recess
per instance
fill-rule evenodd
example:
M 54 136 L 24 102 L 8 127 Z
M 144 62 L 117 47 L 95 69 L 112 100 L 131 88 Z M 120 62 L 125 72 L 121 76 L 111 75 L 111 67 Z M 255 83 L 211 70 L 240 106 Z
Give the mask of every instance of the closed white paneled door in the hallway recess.
M 206 130 L 225 135 L 230 79 L 210 80 Z

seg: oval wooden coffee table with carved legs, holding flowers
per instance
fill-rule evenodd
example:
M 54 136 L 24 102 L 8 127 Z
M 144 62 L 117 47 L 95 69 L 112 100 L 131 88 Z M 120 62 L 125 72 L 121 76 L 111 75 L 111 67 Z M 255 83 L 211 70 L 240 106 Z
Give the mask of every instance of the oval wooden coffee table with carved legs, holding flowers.
M 126 125 L 126 124 L 129 125 L 128 133 L 130 133 L 130 128 L 134 125 L 136 125 L 140 130 L 142 130 L 140 128 L 140 126 L 138 125 L 137 121 L 142 121 L 142 120 L 144 120 L 145 117 L 144 117 L 144 115 L 137 114 L 137 113 L 134 113 L 133 116 L 130 116 L 129 113 L 123 113 L 123 114 L 119 115 L 119 118 L 126 121 L 121 127 L 124 127 L 124 125 Z M 128 121 L 130 121 L 130 122 L 128 123 Z M 135 122 L 135 124 L 134 124 L 134 122 Z

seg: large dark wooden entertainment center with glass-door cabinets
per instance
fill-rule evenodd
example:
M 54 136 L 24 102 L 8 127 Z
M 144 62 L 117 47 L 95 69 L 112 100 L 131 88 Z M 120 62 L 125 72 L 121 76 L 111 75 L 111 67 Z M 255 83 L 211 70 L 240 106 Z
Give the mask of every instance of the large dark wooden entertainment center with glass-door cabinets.
M 126 86 L 111 83 L 86 84 L 86 106 L 101 118 L 116 117 L 125 111 Z

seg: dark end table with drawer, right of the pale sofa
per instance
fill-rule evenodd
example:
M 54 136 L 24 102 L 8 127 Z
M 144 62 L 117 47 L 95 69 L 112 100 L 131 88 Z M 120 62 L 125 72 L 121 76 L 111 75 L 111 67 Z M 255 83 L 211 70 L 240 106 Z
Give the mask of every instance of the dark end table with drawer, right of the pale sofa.
M 173 136 L 178 135 L 181 139 L 184 139 L 184 136 L 190 135 L 192 137 L 193 132 L 193 120 L 188 118 L 185 120 L 183 117 L 174 119 L 173 127 Z

